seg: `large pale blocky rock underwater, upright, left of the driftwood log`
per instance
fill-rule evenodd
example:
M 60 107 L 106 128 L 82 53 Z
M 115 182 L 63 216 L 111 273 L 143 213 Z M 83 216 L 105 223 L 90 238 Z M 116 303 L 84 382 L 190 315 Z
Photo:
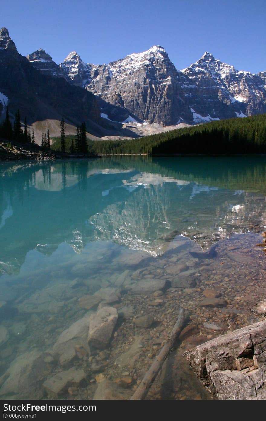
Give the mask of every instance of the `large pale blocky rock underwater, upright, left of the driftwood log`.
M 90 349 L 105 349 L 111 339 L 118 319 L 114 307 L 103 307 L 90 316 L 88 345 Z

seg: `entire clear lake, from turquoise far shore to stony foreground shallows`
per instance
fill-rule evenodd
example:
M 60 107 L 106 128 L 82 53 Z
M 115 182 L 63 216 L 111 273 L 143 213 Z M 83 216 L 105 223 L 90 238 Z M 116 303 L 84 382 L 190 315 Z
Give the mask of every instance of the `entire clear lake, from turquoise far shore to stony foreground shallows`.
M 0 163 L 1 399 L 92 399 L 103 378 L 128 399 L 179 305 L 182 343 L 147 398 L 208 399 L 182 353 L 258 320 L 265 180 L 264 157 Z M 202 305 L 210 290 L 226 304 Z M 92 349 L 98 306 L 118 319 Z M 73 367 L 79 381 L 50 389 Z

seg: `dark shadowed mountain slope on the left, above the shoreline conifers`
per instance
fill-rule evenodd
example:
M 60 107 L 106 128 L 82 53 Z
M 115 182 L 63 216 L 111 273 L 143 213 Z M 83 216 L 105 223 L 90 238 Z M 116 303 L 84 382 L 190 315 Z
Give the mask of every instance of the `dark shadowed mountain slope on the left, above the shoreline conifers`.
M 0 29 L 0 113 L 8 104 L 11 116 L 19 109 L 28 124 L 64 116 L 73 125 L 85 121 L 95 128 L 101 120 L 95 95 L 57 77 L 58 66 L 44 50 L 29 57 L 34 66 L 18 53 L 8 30 Z

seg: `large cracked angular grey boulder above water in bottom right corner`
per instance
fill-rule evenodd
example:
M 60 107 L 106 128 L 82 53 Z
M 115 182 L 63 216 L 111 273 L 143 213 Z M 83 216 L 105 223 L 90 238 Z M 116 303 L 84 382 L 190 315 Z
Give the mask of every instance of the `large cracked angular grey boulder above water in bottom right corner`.
M 213 399 L 266 399 L 266 320 L 184 353 Z

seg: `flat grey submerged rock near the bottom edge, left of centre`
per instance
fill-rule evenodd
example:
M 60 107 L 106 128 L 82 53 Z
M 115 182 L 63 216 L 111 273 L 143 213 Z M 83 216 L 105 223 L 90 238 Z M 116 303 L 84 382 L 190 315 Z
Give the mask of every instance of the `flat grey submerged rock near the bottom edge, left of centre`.
M 46 380 L 43 384 L 45 391 L 53 399 L 58 398 L 60 394 L 66 392 L 70 386 L 79 386 L 85 383 L 86 374 L 83 370 L 77 370 L 76 368 L 70 368 L 61 373 L 55 374 L 55 376 Z

